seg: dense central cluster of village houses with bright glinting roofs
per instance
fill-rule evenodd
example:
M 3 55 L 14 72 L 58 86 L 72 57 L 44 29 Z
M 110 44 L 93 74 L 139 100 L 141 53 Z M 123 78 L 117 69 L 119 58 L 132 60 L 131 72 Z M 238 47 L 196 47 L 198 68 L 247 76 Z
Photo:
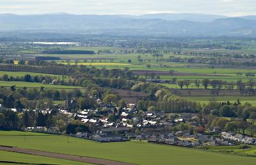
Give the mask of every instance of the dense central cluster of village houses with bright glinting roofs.
M 179 118 L 172 120 L 164 119 L 163 112 L 143 112 L 138 115 L 134 104 L 127 105 L 121 111 L 110 108 L 102 115 L 102 111 L 84 109 L 77 113 L 68 113 L 61 110 L 61 113 L 73 116 L 87 125 L 92 132 L 77 132 L 77 138 L 92 139 L 100 142 L 127 141 L 129 139 L 145 140 L 150 143 L 163 143 L 167 145 L 193 147 L 198 145 L 233 145 L 224 138 L 214 138 L 205 134 L 191 134 L 186 131 L 169 132 L 166 134 L 164 127 L 175 126 L 179 123 L 191 122 L 197 126 L 196 114 L 183 113 Z M 114 114 L 118 120 L 111 121 L 109 114 Z M 141 130 L 136 132 L 136 130 Z M 159 133 L 161 132 L 161 133 Z M 213 127 L 211 133 L 220 133 L 220 127 Z

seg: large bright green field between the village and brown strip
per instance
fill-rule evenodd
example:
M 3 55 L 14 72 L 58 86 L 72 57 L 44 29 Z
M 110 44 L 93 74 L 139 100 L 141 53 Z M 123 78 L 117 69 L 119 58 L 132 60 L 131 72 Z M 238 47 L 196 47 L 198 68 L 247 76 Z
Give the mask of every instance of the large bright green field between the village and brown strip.
M 193 148 L 156 145 L 145 141 L 127 141 L 120 143 L 98 143 L 85 139 L 65 136 L 17 136 L 18 132 L 1 132 L 0 145 L 17 146 L 48 152 L 67 153 L 88 157 L 98 157 L 134 164 L 255 164 L 255 157 L 243 157 L 216 152 L 205 152 Z M 8 136 L 3 136 L 8 134 Z M 16 134 L 16 136 L 12 136 Z M 24 133 L 22 133 L 24 134 Z M 30 135 L 33 133 L 29 133 Z

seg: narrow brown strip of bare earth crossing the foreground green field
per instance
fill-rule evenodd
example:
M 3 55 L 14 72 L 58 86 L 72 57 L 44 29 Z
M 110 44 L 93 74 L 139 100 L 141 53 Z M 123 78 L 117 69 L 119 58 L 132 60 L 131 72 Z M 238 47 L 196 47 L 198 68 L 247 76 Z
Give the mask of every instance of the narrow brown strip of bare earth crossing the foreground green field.
M 8 146 L 0 146 L 0 150 L 8 151 L 8 152 L 18 152 L 18 153 L 27 153 L 31 155 L 38 155 L 44 157 L 52 157 L 57 159 L 67 159 L 70 161 L 77 161 L 77 162 L 88 162 L 92 164 L 106 164 L 106 165 L 131 165 L 125 162 L 117 162 L 117 161 L 110 161 L 106 159 L 97 159 L 92 157 L 79 157 L 75 155 L 66 155 L 61 153 L 51 153 L 51 152 L 43 152 L 38 150 L 29 150 L 25 148 L 15 148 L 15 147 L 8 147 Z

